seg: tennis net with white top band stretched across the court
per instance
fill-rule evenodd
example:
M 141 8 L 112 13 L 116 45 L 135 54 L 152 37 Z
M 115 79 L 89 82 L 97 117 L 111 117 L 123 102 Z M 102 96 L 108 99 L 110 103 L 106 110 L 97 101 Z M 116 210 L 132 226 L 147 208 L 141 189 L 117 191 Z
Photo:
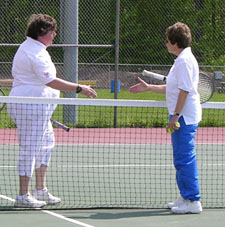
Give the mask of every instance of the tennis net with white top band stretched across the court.
M 166 208 L 168 202 L 179 196 L 170 135 L 165 130 L 165 102 L 0 97 L 0 103 L 14 106 L 11 110 L 17 117 L 21 115 L 22 123 L 30 119 L 32 130 L 40 131 L 36 122 L 45 121 L 57 104 L 52 119 L 70 127 L 69 132 L 54 127 L 55 147 L 47 186 L 61 198 L 61 203 L 44 208 Z M 225 207 L 225 106 L 206 103 L 203 108 L 196 137 L 202 204 Z M 37 142 L 38 133 L 33 134 L 32 130 L 28 137 Z M 12 209 L 19 191 L 19 133 L 6 107 L 3 108 L 1 210 Z M 27 143 L 32 147 L 32 141 Z M 30 185 L 31 190 L 34 188 L 35 174 Z

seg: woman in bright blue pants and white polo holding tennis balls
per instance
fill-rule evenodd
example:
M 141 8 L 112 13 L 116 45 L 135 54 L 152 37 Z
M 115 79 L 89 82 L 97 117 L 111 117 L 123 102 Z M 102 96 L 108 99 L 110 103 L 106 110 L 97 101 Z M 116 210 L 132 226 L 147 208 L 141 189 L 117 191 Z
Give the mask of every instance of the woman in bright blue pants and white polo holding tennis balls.
M 168 52 L 177 56 L 165 85 L 150 85 L 138 78 L 139 83 L 130 92 L 152 91 L 166 94 L 169 112 L 167 130 L 171 135 L 176 181 L 180 197 L 168 204 L 173 213 L 201 213 L 195 135 L 201 121 L 200 97 L 197 91 L 199 66 L 191 51 L 191 30 L 181 22 L 166 30 Z M 177 125 L 180 123 L 180 127 Z

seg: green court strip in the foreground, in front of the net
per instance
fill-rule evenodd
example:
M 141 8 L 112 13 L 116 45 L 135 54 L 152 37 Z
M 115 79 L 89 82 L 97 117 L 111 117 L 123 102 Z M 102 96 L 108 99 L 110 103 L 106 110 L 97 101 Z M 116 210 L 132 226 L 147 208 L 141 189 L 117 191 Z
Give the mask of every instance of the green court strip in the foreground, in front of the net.
M 224 209 L 186 215 L 171 214 L 169 209 L 2 211 L 0 220 L 4 227 L 223 227 L 224 213 Z

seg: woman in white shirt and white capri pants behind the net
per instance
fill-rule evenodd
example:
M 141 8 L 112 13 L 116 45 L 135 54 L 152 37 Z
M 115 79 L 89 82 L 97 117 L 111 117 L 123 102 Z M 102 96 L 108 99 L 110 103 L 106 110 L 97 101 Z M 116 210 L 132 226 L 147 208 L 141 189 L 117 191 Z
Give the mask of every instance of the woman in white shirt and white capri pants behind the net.
M 90 86 L 71 83 L 56 77 L 56 68 L 46 48 L 56 36 L 56 20 L 46 14 L 30 17 L 27 39 L 17 50 L 12 67 L 13 88 L 10 96 L 58 98 L 61 91 L 74 91 L 89 98 L 97 93 Z M 16 207 L 39 208 L 57 204 L 60 198 L 51 195 L 46 186 L 46 172 L 54 148 L 50 122 L 56 106 L 52 104 L 9 104 L 8 112 L 17 125 L 20 155 L 18 161 L 19 196 Z M 36 189 L 29 193 L 35 170 Z

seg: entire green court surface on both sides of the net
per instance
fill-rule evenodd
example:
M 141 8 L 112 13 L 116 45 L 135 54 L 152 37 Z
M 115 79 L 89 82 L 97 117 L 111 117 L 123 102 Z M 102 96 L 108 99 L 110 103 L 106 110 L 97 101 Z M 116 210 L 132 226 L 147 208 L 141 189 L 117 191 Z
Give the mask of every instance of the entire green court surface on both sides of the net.
M 196 144 L 204 210 L 192 215 L 166 209 L 178 196 L 171 144 L 57 144 L 48 185 L 62 199 L 60 210 L 13 208 L 18 191 L 18 145 L 2 144 L 0 148 L 1 226 L 224 226 L 224 143 Z M 106 209 L 133 203 L 144 208 Z M 103 208 L 79 208 L 89 205 Z

